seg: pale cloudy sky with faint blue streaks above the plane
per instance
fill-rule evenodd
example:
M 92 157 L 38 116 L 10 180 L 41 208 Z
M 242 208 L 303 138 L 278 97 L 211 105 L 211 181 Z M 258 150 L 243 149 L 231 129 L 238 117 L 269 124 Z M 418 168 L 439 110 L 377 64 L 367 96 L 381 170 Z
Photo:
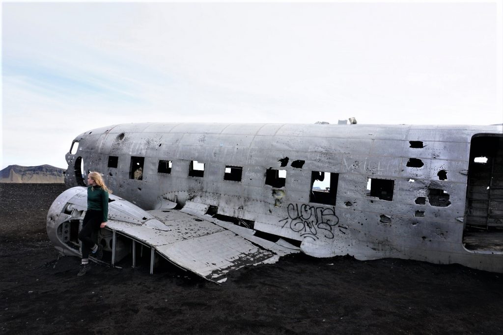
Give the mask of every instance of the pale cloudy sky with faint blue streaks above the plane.
M 503 123 L 501 6 L 3 2 L 0 168 L 117 123 Z

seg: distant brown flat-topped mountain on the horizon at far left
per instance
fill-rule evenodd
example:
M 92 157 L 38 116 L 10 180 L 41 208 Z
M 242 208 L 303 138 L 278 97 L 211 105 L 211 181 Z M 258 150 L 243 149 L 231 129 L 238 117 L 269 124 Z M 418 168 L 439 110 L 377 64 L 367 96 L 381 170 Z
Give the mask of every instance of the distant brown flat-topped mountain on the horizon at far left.
M 9 165 L 0 171 L 0 183 L 63 183 L 65 171 L 51 165 Z

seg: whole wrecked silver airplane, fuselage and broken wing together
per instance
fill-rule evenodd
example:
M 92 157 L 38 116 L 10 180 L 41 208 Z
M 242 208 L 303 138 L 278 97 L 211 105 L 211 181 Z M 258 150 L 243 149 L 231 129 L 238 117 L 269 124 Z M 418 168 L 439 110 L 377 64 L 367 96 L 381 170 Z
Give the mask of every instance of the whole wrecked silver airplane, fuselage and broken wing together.
M 122 124 L 77 136 L 66 161 L 71 188 L 47 216 L 64 255 L 80 255 L 99 171 L 111 265 L 162 258 L 222 282 L 302 252 L 503 272 L 502 125 Z M 470 247 L 468 228 L 492 243 Z

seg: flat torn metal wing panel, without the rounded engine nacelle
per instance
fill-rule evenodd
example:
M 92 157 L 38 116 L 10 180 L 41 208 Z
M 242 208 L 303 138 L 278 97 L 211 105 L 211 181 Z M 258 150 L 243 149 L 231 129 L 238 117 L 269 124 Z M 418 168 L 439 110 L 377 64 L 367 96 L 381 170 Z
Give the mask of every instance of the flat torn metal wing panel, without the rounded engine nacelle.
M 148 213 L 159 223 L 137 225 L 112 219 L 108 227 L 154 247 L 170 262 L 210 281 L 220 282 L 229 271 L 244 266 L 274 263 L 279 256 L 289 253 L 279 245 L 276 245 L 276 252 L 260 246 L 255 243 L 257 241 L 248 240 L 258 239 L 251 233 L 247 239 L 194 214 L 165 209 L 150 210 Z M 274 244 L 263 242 L 265 245 Z

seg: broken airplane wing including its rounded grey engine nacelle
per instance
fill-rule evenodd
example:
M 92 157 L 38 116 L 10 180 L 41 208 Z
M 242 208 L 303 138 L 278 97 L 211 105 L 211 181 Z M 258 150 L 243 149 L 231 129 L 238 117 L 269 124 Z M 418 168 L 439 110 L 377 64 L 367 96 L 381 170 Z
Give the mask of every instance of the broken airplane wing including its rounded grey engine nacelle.
M 84 187 L 73 187 L 54 201 L 48 215 L 49 219 L 53 213 L 54 227 L 75 221 L 75 216 L 83 216 L 82 209 L 86 208 L 87 201 L 83 193 L 85 191 Z M 109 203 L 107 228 L 114 233 L 112 251 L 115 248 L 115 234 L 120 234 L 151 247 L 173 264 L 213 282 L 225 281 L 229 271 L 260 263 L 274 263 L 281 256 L 299 251 L 284 241 L 279 245 L 254 236 L 253 230 L 213 218 L 205 214 L 208 206 L 204 204 L 187 202 L 181 210 L 144 211 L 117 196 L 110 195 L 110 198 L 113 201 Z M 56 206 L 59 209 L 53 208 L 55 204 L 59 204 Z M 55 217 L 58 212 L 64 214 L 60 215 L 60 219 Z M 61 221 L 59 225 L 58 221 Z M 56 229 L 56 232 L 59 230 Z M 54 237 L 51 234 L 49 236 L 53 240 Z M 68 240 L 72 240 L 71 236 Z M 75 251 L 70 254 L 78 255 Z

